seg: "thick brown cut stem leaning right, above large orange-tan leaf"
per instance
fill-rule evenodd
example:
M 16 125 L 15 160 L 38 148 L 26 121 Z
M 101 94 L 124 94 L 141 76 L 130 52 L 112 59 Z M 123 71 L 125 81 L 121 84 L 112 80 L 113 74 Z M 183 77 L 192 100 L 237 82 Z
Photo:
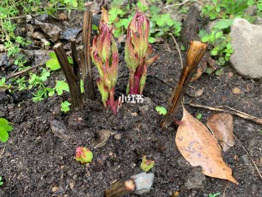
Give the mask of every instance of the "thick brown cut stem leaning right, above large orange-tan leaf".
M 165 126 L 166 121 L 174 114 L 183 94 L 188 88 L 195 68 L 204 55 L 206 44 L 200 41 L 190 41 L 190 46 L 186 55 L 186 63 L 183 66 L 180 78 L 175 86 L 174 93 L 169 100 L 168 113 L 162 118 L 160 127 Z

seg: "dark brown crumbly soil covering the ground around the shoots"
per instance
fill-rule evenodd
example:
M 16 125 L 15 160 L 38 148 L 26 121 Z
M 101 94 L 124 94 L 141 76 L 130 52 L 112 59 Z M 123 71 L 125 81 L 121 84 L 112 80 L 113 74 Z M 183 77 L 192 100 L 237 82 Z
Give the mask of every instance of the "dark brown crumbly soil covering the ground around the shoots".
M 227 180 L 205 176 L 205 182 L 196 189 L 187 190 L 185 183 L 195 170 L 181 156 L 175 146 L 177 127 L 167 130 L 159 128 L 161 115 L 155 111 L 156 105 L 166 105 L 172 87 L 179 77 L 179 56 L 170 44 L 155 45 L 160 58 L 149 68 L 149 76 L 143 104 L 123 104 L 117 115 L 105 110 L 99 99 L 88 101 L 85 110 L 60 112 L 60 102 L 69 95 L 51 97 L 39 103 L 30 99 L 18 101 L 11 95 L 0 96 L 0 117 L 14 124 L 7 143 L 0 143 L 0 175 L 4 184 L 0 187 L 0 197 L 102 197 L 103 192 L 114 181 L 140 173 L 141 158 L 155 161 L 152 172 L 155 175 L 150 193 L 143 197 L 171 197 L 175 191 L 179 197 L 207 197 L 209 193 L 223 192 L 225 197 L 260 197 L 261 179 L 250 158 L 239 143 L 223 153 L 224 161 L 233 169 L 233 176 L 239 182 L 235 185 Z M 233 76 L 229 76 L 233 72 Z M 61 77 L 56 73 L 57 78 Z M 120 64 L 116 95 L 125 93 L 128 72 L 124 63 Z M 167 83 L 159 80 L 165 80 Z M 54 83 L 51 77 L 50 83 Z M 169 85 L 170 84 L 170 85 Z M 200 97 L 195 91 L 204 88 Z M 238 87 L 240 95 L 232 89 Z M 228 105 L 237 110 L 261 117 L 262 84 L 259 81 L 239 76 L 230 66 L 225 67 L 221 77 L 203 74 L 190 85 L 185 102 L 195 102 L 206 106 Z M 98 92 L 97 98 L 98 98 Z M 25 95 L 20 97 L 27 98 Z M 150 98 L 150 99 L 148 99 Z M 201 121 L 213 112 L 185 105 L 196 116 L 203 114 Z M 137 115 L 136 115 L 137 113 Z M 177 114 L 181 118 L 181 109 Z M 64 123 L 71 139 L 64 140 L 51 131 L 50 121 L 56 119 Z M 112 135 L 106 145 L 93 149 L 95 131 L 110 129 Z M 234 117 L 234 133 L 251 154 L 262 170 L 261 125 Z M 115 134 L 121 134 L 120 139 Z M 88 147 L 94 154 L 91 164 L 81 165 L 74 160 L 78 146 Z M 56 192 L 52 192 L 58 187 Z M 203 188 L 203 189 L 201 189 Z M 136 195 L 124 195 L 135 197 Z

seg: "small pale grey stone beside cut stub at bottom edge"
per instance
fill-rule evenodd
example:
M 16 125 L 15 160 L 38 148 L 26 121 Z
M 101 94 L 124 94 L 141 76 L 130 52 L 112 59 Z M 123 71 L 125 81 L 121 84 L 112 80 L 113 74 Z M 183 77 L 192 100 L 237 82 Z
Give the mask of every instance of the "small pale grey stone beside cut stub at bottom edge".
M 135 194 L 145 194 L 150 191 L 153 185 L 154 173 L 140 173 L 132 176 L 136 183 Z

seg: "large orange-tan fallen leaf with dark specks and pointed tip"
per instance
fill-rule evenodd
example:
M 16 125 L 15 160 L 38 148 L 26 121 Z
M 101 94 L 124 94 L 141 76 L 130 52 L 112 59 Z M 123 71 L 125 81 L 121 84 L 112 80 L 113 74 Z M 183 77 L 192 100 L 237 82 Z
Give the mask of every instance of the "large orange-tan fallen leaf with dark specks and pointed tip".
M 182 121 L 183 124 L 179 125 L 176 132 L 175 143 L 186 161 L 192 166 L 202 166 L 204 175 L 238 184 L 232 176 L 232 169 L 221 157 L 221 147 L 216 138 L 185 108 Z

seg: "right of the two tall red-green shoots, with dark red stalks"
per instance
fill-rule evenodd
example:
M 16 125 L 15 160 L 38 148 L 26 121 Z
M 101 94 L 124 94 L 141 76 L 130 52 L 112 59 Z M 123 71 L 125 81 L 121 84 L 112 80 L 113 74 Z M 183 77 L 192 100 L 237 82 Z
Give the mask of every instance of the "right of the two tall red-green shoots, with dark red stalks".
M 153 52 L 148 36 L 149 20 L 145 14 L 137 12 L 128 25 L 125 45 L 125 61 L 130 71 L 127 92 L 130 95 L 143 94 L 147 66 L 157 58 L 148 59 Z

